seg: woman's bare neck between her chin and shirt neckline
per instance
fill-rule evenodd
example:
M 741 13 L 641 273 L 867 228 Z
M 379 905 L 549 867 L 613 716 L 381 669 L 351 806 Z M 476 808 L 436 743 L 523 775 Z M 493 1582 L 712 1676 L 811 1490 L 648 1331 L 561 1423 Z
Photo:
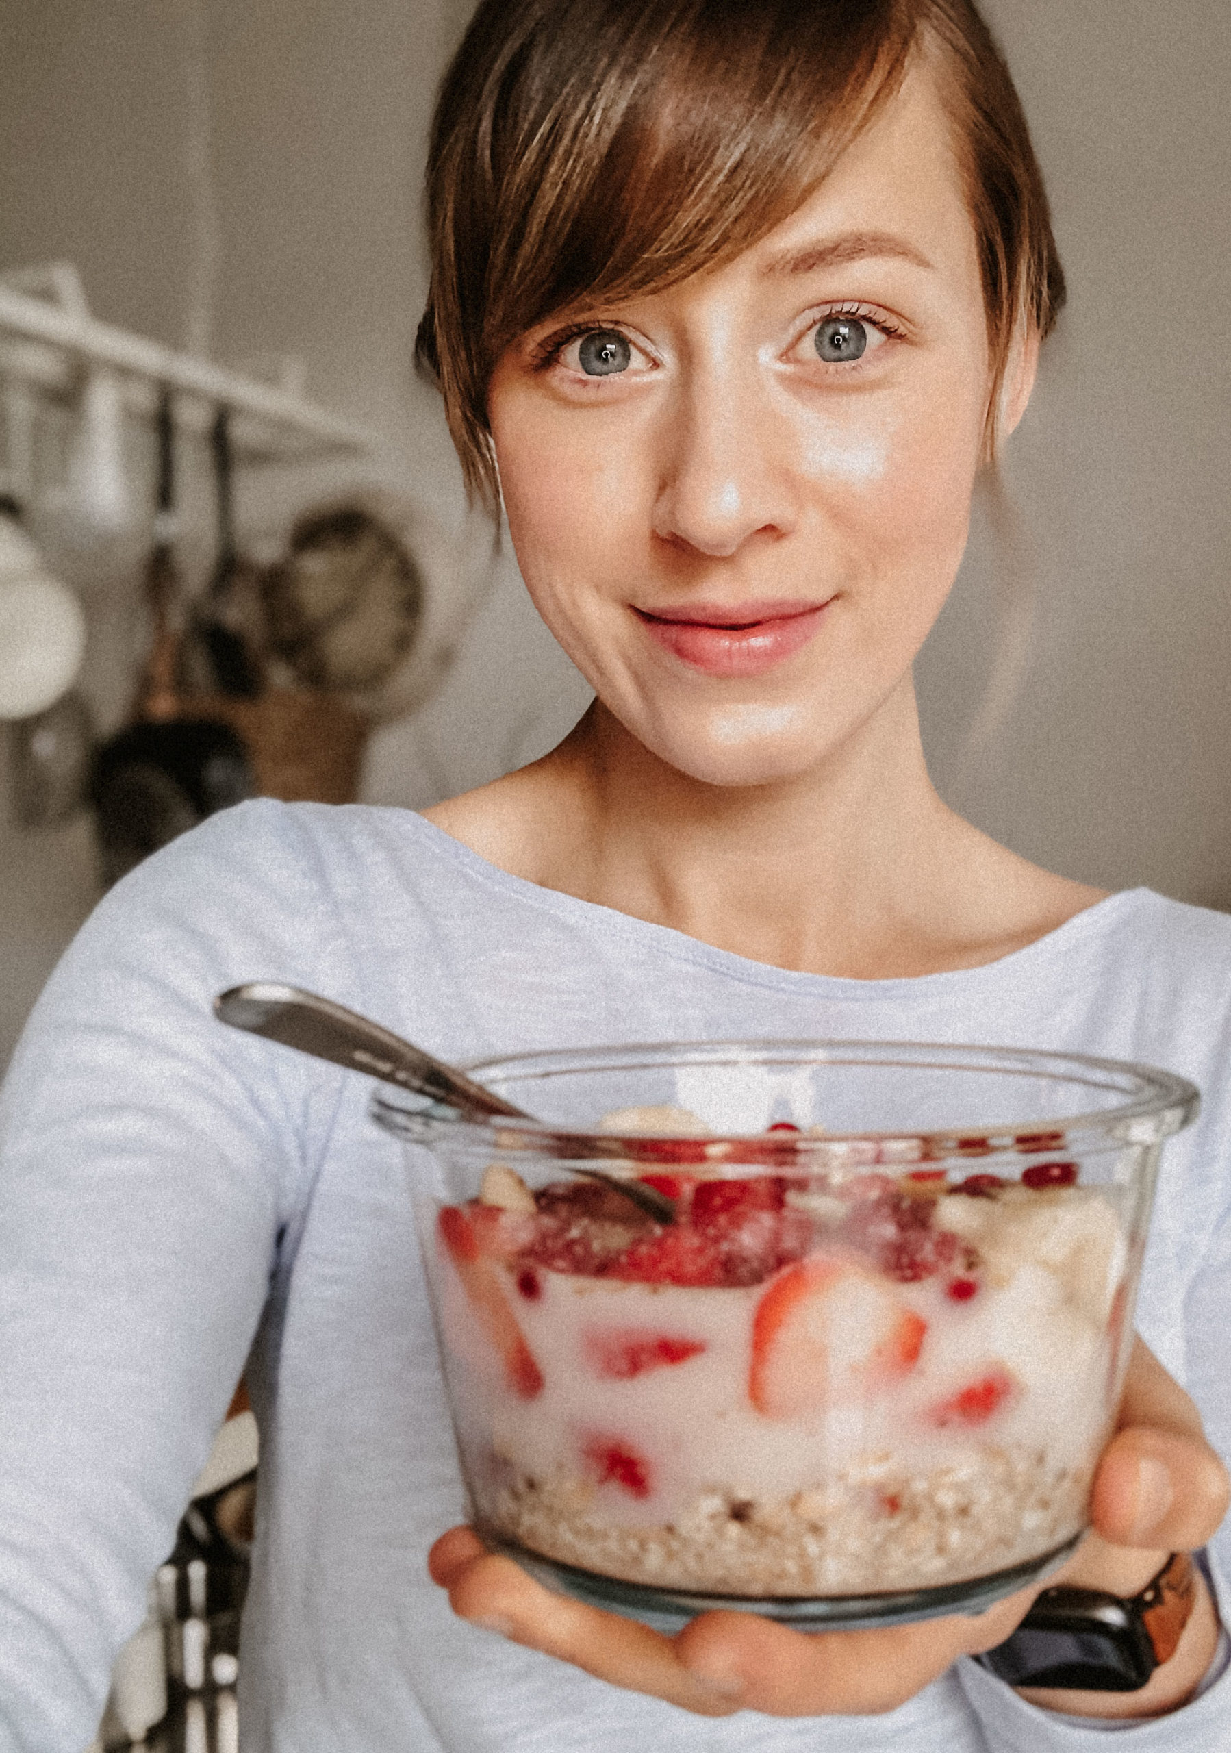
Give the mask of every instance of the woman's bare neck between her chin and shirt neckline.
M 598 703 L 531 771 L 558 808 L 526 875 L 782 968 L 900 966 L 928 934 L 954 840 L 973 834 L 931 785 L 908 678 L 787 780 L 691 778 Z

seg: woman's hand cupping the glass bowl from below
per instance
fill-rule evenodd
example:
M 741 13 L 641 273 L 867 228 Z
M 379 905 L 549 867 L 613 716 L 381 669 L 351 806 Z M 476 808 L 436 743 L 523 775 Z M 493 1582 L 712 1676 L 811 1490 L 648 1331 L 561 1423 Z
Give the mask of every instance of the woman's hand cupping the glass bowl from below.
M 1091 1515 L 1099 1539 L 1082 1543 L 1064 1578 L 1117 1593 L 1136 1592 L 1157 1569 L 1156 1555 L 1205 1544 L 1226 1508 L 1227 1474 L 1201 1434 L 1192 1401 L 1138 1339 L 1121 1423 L 1094 1478 Z M 551 1593 L 512 1558 L 489 1553 L 465 1527 L 437 1541 L 430 1569 L 461 1618 L 616 1686 L 703 1716 L 740 1709 L 772 1716 L 893 1711 L 959 1655 L 1003 1643 L 1042 1586 L 1024 1588 L 977 1618 L 954 1615 L 889 1630 L 805 1634 L 749 1613 L 703 1613 L 675 1637 L 665 1637 L 635 1620 Z M 1126 1578 L 1138 1579 L 1129 1585 Z M 1205 1611 L 1212 1623 L 1208 1597 Z M 1182 1655 L 1184 1646 L 1171 1662 Z M 1170 1704 L 1150 1707 L 1163 1711 L 1182 1702 L 1210 1655 L 1212 1646 Z M 1164 1676 L 1171 1662 L 1157 1674 Z M 1057 1697 L 1059 1707 L 1073 1709 L 1070 1700 L 1084 1695 Z

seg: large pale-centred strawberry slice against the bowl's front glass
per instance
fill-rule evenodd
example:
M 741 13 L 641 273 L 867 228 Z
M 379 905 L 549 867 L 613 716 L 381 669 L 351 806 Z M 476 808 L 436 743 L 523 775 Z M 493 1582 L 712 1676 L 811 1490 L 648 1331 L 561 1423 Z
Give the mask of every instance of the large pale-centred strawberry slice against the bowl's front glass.
M 749 1399 L 766 1418 L 798 1418 L 877 1394 L 915 1367 L 926 1331 L 884 1278 L 808 1255 L 758 1302 Z

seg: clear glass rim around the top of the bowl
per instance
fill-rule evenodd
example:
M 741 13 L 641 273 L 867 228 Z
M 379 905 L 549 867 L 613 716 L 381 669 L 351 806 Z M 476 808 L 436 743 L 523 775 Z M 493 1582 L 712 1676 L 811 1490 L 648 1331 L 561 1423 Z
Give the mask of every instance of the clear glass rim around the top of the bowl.
M 921 1129 L 921 1131 L 866 1131 L 866 1132 L 600 1132 L 563 1125 L 547 1125 L 537 1118 L 514 1118 L 491 1115 L 484 1118 L 463 1117 L 454 1108 L 430 1097 L 410 1097 L 400 1090 L 402 1099 L 395 1099 L 389 1085 L 382 1085 L 372 1097 L 370 1113 L 377 1125 L 386 1131 L 423 1143 L 428 1146 L 454 1141 L 477 1148 L 500 1148 L 502 1152 L 523 1152 L 545 1157 L 621 1157 L 624 1160 L 665 1162 L 672 1152 L 679 1152 L 680 1141 L 705 1146 L 703 1159 L 719 1164 L 726 1157 L 738 1160 L 740 1153 L 756 1141 L 759 1157 L 765 1162 L 766 1150 L 773 1155 L 775 1167 L 789 1167 L 791 1162 L 815 1164 L 833 1160 L 835 1150 L 842 1153 L 859 1143 L 877 1146 L 921 1146 L 919 1157 L 905 1160 L 936 1162 L 945 1157 L 970 1159 L 987 1157 L 1003 1152 L 1056 1153 L 1057 1150 L 1108 1150 L 1121 1145 L 1152 1145 L 1178 1132 L 1196 1118 L 1199 1092 L 1187 1078 L 1157 1066 L 1140 1064 L 1129 1059 L 1103 1059 L 1091 1054 L 1063 1054 L 1033 1047 L 986 1047 L 961 1041 L 896 1041 L 896 1040 L 838 1040 L 838 1038 L 784 1038 L 754 1040 L 731 1038 L 721 1041 L 623 1041 L 607 1047 L 570 1047 L 544 1048 L 530 1054 L 500 1054 L 486 1059 L 468 1061 L 461 1066 L 468 1076 L 484 1082 L 495 1073 L 512 1075 L 514 1068 L 524 1073 L 528 1082 L 554 1073 L 568 1075 L 586 1069 L 637 1069 L 640 1062 L 663 1066 L 670 1062 L 717 1062 L 738 1054 L 744 1061 L 798 1062 L 807 1055 L 814 1064 L 915 1064 L 936 1066 L 954 1071 L 1000 1071 L 1021 1076 L 1052 1076 L 1057 1082 L 1064 1076 L 1071 1083 L 1089 1083 L 1091 1087 L 1124 1089 L 1136 1083 L 1136 1090 L 1126 1090 L 1128 1099 L 1110 1108 L 1087 1110 L 1075 1115 L 1054 1118 L 1028 1118 L 1021 1122 L 1003 1122 L 994 1127 L 971 1122 L 963 1129 Z M 872 1057 L 870 1057 L 872 1055 Z M 894 1057 L 898 1055 L 898 1057 Z M 936 1059 L 936 1055 L 942 1055 Z M 1085 1073 L 1085 1076 L 1080 1076 Z M 416 1104 L 410 1106 L 409 1103 Z M 658 1146 L 658 1148 L 656 1148 Z

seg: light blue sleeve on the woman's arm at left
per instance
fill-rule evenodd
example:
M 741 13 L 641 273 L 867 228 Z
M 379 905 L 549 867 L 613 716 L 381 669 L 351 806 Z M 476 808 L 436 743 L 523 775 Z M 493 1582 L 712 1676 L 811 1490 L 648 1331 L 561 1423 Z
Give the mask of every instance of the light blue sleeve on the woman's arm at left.
M 209 1010 L 324 929 L 281 833 L 228 812 L 112 891 L 0 1097 L 2 1753 L 93 1734 L 337 1099 Z

